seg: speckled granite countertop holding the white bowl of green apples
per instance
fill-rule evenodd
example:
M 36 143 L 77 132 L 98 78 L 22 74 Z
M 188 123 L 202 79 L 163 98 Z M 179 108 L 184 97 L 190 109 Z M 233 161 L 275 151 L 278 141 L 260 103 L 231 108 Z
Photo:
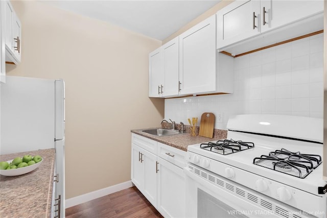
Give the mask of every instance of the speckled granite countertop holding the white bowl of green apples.
M 31 154 L 43 162 L 20 176 L 0 175 L 0 217 L 50 217 L 55 170 L 55 149 L 0 155 L 0 161 Z

